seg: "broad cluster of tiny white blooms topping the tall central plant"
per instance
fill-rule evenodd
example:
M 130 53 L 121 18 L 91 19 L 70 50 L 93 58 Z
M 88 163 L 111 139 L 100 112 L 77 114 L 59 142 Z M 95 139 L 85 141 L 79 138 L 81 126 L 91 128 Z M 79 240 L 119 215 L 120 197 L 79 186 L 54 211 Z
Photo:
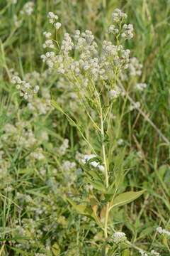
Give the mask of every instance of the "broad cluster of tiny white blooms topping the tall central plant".
M 118 11 L 118 17 L 120 16 L 124 17 L 125 15 Z M 54 23 L 56 19 L 55 14 L 50 14 L 51 23 Z M 128 30 L 131 28 L 131 26 L 127 26 Z M 110 26 L 111 31 L 118 32 L 115 30 L 115 26 Z M 51 34 L 45 32 L 44 35 L 46 41 L 43 47 L 53 48 Z M 77 52 L 77 60 L 72 57 L 72 50 Z M 41 58 L 50 69 L 56 68 L 58 73 L 67 75 L 71 81 L 75 82 L 75 77 L 79 76 L 79 83 L 84 85 L 84 81 L 88 84 L 89 79 L 94 81 L 112 80 L 118 70 L 128 68 L 130 50 L 124 49 L 121 45 L 115 46 L 111 41 L 103 41 L 99 48 L 91 31 L 86 30 L 81 33 L 77 30 L 73 38 L 69 33 L 64 34 L 59 55 L 56 55 L 55 52 L 47 52 Z

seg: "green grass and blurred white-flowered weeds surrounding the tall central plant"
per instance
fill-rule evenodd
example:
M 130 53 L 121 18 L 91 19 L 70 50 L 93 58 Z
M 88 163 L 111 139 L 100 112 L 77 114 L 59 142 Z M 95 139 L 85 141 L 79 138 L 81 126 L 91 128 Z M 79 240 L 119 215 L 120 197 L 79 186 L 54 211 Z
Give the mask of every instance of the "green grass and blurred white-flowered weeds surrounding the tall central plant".
M 170 229 L 169 1 L 38 0 L 29 17 L 20 14 L 25 3 L 0 3 L 0 255 L 101 255 L 98 227 L 78 215 L 65 199 L 66 195 L 75 200 L 81 197 L 81 201 L 86 197 L 84 172 L 75 157 L 77 151 L 91 154 L 91 149 L 70 120 L 47 105 L 47 100 L 51 96 L 58 99 L 69 114 L 74 112 L 81 119 L 86 138 L 96 151 L 99 138 L 91 131 L 79 102 L 72 100 L 69 85 L 57 73 L 47 73 L 40 55 L 44 53 L 42 32 L 51 29 L 49 11 L 60 17 L 63 33 L 89 29 L 100 42 L 115 8 L 123 9 L 128 22 L 135 26 L 135 38 L 127 47 L 143 68 L 140 78 L 123 82 L 129 97 L 115 102 L 113 144 L 123 139 L 123 145 L 116 144 L 111 161 L 120 156 L 118 168 L 122 165 L 128 170 L 120 192 L 145 188 L 146 193 L 130 205 L 113 210 L 113 225 L 127 234 L 133 246 L 170 255 L 168 238 L 155 233 L 159 225 Z M 15 15 L 22 19 L 18 28 Z M 36 78 L 40 100 L 33 110 L 11 84 L 12 68 L 21 78 L 33 71 L 40 73 Z M 136 82 L 146 82 L 147 89 L 135 92 Z M 139 111 L 129 111 L 130 100 L 140 102 Z M 69 148 L 62 155 L 60 146 L 66 138 Z M 42 158 L 38 159 L 36 153 Z M 76 162 L 77 166 L 66 170 L 64 161 Z M 118 248 L 112 255 L 116 253 L 139 255 L 132 247 L 124 252 Z

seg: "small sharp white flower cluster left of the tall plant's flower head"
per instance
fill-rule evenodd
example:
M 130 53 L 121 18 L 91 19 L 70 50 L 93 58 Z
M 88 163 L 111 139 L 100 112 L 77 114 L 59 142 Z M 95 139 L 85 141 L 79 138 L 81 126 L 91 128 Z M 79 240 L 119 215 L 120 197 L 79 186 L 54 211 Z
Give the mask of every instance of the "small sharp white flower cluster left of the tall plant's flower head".
M 21 80 L 17 75 L 12 77 L 11 82 L 16 85 L 16 89 L 20 91 L 20 96 L 28 101 L 33 99 L 40 88 L 38 85 L 32 86 L 30 82 Z

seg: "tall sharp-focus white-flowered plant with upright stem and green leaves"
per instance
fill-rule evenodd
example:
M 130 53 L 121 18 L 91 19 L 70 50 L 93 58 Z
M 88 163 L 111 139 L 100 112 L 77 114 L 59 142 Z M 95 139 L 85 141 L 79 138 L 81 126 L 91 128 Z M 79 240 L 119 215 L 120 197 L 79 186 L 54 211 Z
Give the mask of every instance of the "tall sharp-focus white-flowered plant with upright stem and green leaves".
M 61 26 L 55 23 L 58 17 L 53 13 L 48 17 L 58 33 Z M 112 160 L 115 154 L 112 114 L 116 99 L 123 95 L 118 80 L 130 63 L 130 50 L 124 48 L 123 42 L 133 37 L 133 26 L 125 24 L 126 18 L 123 11 L 115 9 L 113 24 L 106 33 L 106 38 L 111 37 L 111 41 L 104 40 L 101 45 L 96 43 L 89 30 L 82 33 L 77 30 L 73 36 L 64 33 L 61 47 L 57 39 L 52 39 L 52 33 L 45 32 L 43 47 L 53 51 L 41 56 L 50 70 L 57 70 L 72 86 L 91 122 L 91 131 L 98 137 L 99 146 L 96 147 L 91 138 L 86 137 L 81 119 L 67 113 L 57 101 L 52 100 L 52 105 L 67 117 L 72 126 L 77 127 L 92 153 L 81 159 L 84 184 L 90 185 L 89 193 L 83 202 L 76 203 L 70 196 L 66 199 L 79 214 L 92 218 L 103 230 L 103 255 L 111 255 L 120 242 L 127 241 L 125 233 L 115 232 L 111 225 L 113 209 L 134 201 L 144 193 L 144 190 L 120 193 L 126 174 L 120 166 L 125 151 L 119 152 L 118 165 Z

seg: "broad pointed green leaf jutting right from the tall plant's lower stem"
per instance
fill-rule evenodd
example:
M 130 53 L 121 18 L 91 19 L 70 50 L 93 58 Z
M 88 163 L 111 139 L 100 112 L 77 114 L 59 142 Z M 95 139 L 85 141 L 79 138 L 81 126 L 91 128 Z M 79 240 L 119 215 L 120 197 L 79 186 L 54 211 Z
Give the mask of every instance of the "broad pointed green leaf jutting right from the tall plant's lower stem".
M 121 193 L 120 195 L 116 196 L 116 198 L 114 199 L 110 210 L 112 208 L 124 206 L 127 203 L 131 203 L 135 199 L 142 196 L 142 193 L 144 193 L 144 192 L 145 192 L 145 189 L 142 191 L 137 191 L 137 192 L 129 191 L 129 192 Z

